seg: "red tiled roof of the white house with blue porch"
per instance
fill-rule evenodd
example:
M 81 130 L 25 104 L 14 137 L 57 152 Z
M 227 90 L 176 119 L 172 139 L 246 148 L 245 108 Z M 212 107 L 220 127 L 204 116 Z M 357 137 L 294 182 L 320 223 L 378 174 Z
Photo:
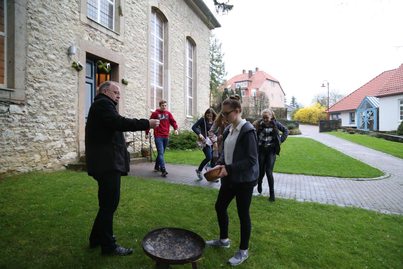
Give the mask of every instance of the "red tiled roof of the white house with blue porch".
M 355 110 L 365 96 L 380 96 L 403 91 L 403 65 L 397 69 L 385 71 L 367 82 L 336 104 L 329 107 L 329 112 Z M 391 86 L 389 86 L 391 85 Z M 400 85 L 400 87 L 399 87 Z M 389 92 L 386 89 L 391 88 Z M 393 88 L 393 89 L 392 89 Z M 393 92 L 391 92 L 393 91 Z M 385 92 L 385 93 L 384 93 Z M 324 111 L 327 113 L 327 109 Z

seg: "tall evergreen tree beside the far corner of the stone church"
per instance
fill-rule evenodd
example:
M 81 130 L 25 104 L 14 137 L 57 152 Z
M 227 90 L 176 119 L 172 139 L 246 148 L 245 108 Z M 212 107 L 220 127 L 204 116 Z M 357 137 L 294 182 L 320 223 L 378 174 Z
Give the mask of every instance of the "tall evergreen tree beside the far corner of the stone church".
M 222 42 L 210 32 L 210 104 L 211 99 L 216 98 L 220 93 L 218 88 L 222 86 L 227 75 L 225 71 L 225 63 L 223 60 L 224 53 L 221 52 Z

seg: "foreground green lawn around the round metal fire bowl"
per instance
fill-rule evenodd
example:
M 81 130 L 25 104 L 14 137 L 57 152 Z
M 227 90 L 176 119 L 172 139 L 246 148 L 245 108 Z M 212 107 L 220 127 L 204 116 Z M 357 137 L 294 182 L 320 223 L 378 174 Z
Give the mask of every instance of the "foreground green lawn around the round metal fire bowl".
M 291 140 L 290 140 L 291 141 Z M 1 268 L 153 268 L 141 248 L 148 227 L 163 225 L 219 236 L 218 190 L 123 177 L 114 215 L 118 244 L 130 256 L 88 247 L 98 211 L 97 184 L 86 173 L 27 173 L 0 183 Z M 231 248 L 206 248 L 199 268 L 233 268 L 239 247 L 235 201 Z M 241 268 L 403 268 L 403 217 L 357 208 L 253 196 L 249 259 Z M 173 269 L 191 268 L 172 266 Z

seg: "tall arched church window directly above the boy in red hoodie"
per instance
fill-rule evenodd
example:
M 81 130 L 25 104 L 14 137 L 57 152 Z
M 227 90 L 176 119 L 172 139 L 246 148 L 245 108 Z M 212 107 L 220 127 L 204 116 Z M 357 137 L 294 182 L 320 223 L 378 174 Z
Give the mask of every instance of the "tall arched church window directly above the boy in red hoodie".
M 151 109 L 159 107 L 164 99 L 164 21 L 151 11 Z

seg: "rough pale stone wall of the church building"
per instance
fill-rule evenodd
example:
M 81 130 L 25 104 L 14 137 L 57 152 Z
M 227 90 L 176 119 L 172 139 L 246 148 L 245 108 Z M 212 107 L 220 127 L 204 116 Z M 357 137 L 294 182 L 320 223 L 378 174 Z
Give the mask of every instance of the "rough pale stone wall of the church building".
M 147 117 L 147 8 L 146 0 L 126 1 L 125 42 L 111 38 L 80 21 L 81 1 L 27 3 L 26 98 L 0 100 L 0 174 L 56 170 L 78 161 L 78 72 L 71 67 L 77 54 L 67 48 L 79 40 L 125 57 L 127 117 Z M 179 128 L 187 126 L 184 113 L 184 32 L 197 36 L 197 88 L 199 113 L 208 107 L 210 30 L 184 1 L 165 0 L 170 12 L 171 106 Z M 84 72 L 85 70 L 81 71 Z

